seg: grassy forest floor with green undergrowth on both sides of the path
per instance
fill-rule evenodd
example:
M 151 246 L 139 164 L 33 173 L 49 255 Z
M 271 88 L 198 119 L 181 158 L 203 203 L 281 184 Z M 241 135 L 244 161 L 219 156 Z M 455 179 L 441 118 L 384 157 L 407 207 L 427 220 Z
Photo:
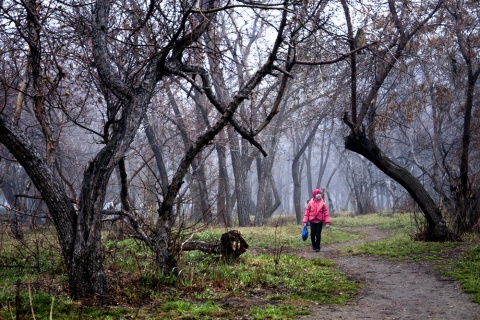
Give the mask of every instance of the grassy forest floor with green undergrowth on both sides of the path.
M 65 268 L 48 228 L 25 231 L 22 241 L 4 232 L 0 242 L 0 319 L 293 319 L 312 307 L 347 305 L 365 285 L 338 268 L 340 256 L 434 264 L 439 274 L 462 283 L 480 303 L 480 240 L 460 243 L 412 240 L 409 214 L 338 214 L 323 232 L 328 252 L 316 256 L 293 216 L 263 227 L 238 228 L 249 250 L 235 262 L 184 252 L 177 270 L 161 275 L 154 256 L 133 239 L 105 234 L 104 266 L 110 291 L 81 302 L 68 298 Z M 385 239 L 366 241 L 371 230 Z M 208 228 L 194 239 L 219 241 L 225 228 Z M 388 235 L 388 236 L 387 236 Z M 110 239 L 110 240 L 108 240 Z

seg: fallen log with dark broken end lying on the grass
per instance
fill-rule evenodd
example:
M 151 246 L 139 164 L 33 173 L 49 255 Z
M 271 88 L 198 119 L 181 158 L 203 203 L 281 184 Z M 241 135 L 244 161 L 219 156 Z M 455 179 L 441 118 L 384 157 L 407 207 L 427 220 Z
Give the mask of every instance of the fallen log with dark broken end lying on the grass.
M 187 241 L 182 245 L 182 251 L 199 250 L 209 254 L 221 254 L 225 258 L 237 259 L 248 249 L 248 243 L 238 230 L 231 230 L 220 238 L 220 243 L 205 241 Z

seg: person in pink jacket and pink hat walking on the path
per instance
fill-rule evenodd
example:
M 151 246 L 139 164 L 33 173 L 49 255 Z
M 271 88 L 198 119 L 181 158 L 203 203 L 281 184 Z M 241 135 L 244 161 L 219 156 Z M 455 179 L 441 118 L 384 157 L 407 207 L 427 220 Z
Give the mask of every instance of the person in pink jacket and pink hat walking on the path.
M 303 216 L 303 225 L 310 222 L 310 239 L 312 248 L 315 252 L 320 251 L 320 240 L 322 237 L 322 227 L 330 226 L 330 216 L 328 215 L 327 204 L 322 199 L 322 192 L 319 189 L 313 190 L 313 197 L 308 202 L 305 214 Z

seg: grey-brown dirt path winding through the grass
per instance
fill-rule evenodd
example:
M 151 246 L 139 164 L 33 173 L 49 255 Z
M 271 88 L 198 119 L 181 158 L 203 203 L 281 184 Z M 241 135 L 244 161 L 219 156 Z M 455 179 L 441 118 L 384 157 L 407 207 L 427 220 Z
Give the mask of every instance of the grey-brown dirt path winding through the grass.
M 333 260 L 349 277 L 365 284 L 346 306 L 320 306 L 314 316 L 299 319 L 460 319 L 480 320 L 480 305 L 470 301 L 460 284 L 436 274 L 427 263 L 391 262 L 379 257 L 339 256 L 341 247 L 379 240 L 388 233 L 368 229 L 369 236 L 348 243 L 326 245 L 306 257 Z

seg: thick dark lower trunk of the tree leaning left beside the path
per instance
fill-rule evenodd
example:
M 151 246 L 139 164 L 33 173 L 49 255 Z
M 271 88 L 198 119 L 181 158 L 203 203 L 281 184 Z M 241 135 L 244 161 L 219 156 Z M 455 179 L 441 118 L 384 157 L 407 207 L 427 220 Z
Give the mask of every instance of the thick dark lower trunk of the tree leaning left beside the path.
M 349 124 L 346 118 L 344 118 L 344 120 Z M 400 183 L 408 191 L 422 209 L 427 220 L 425 240 L 459 240 L 459 237 L 448 229 L 440 208 L 435 204 L 432 197 L 428 194 L 427 190 L 425 190 L 424 186 L 418 181 L 418 179 L 408 170 L 389 159 L 378 148 L 375 141 L 370 140 L 366 136 L 363 130 L 359 130 L 358 128 L 353 129 L 350 135 L 345 138 L 345 148 L 370 160 L 387 176 Z

